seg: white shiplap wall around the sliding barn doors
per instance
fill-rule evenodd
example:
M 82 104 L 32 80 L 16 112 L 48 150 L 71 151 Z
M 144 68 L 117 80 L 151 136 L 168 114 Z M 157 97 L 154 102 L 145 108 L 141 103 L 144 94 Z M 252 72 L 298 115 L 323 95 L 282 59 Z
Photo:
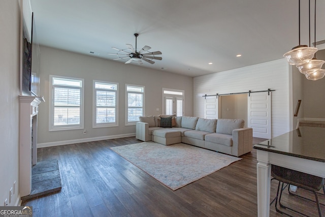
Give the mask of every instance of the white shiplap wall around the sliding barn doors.
M 275 89 L 272 92 L 272 138 L 290 131 L 290 76 L 285 59 L 193 79 L 194 116 L 204 117 L 204 96 Z

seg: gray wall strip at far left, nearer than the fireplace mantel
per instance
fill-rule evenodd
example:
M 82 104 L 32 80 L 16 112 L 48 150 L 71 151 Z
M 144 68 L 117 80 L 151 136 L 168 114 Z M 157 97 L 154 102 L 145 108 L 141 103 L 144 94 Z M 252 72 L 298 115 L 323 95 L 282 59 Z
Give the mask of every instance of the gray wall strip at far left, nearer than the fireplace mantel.
M 0 206 L 16 181 L 9 206 L 17 205 L 19 173 L 20 9 L 18 1 L 0 1 Z

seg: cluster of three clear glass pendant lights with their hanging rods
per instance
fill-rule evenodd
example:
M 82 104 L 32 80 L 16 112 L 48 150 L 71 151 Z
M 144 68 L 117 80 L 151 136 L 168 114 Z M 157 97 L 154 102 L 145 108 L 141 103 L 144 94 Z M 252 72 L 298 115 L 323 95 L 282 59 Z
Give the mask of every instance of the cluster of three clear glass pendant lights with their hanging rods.
M 316 46 L 316 0 L 315 0 L 315 43 Z M 309 46 L 310 46 L 310 0 L 309 0 Z M 318 80 L 325 76 L 325 70 L 321 67 L 325 63 L 324 60 L 316 59 L 316 47 L 308 47 L 307 45 L 300 45 L 300 0 L 299 0 L 299 45 L 292 50 L 286 52 L 283 57 L 286 58 L 290 65 L 295 65 L 299 71 L 305 74 L 308 80 Z

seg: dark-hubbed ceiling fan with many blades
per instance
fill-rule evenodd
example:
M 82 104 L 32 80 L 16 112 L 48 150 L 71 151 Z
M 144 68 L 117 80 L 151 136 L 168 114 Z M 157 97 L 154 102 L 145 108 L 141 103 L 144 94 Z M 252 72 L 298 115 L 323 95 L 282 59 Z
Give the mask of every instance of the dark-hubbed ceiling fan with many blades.
M 149 46 L 144 46 L 141 50 L 137 49 L 137 37 L 139 36 L 138 33 L 135 33 L 134 36 L 136 37 L 136 48 L 134 48 L 131 44 L 126 44 L 127 48 L 125 49 L 118 49 L 116 47 L 112 47 L 115 50 L 118 50 L 117 53 L 107 53 L 107 54 L 112 54 L 112 55 L 117 55 L 118 58 L 115 58 L 114 60 L 117 59 L 126 59 L 129 58 L 125 64 L 129 63 L 138 63 L 139 65 L 143 64 L 143 61 L 148 62 L 149 64 L 154 64 L 155 62 L 152 61 L 152 59 L 157 59 L 161 60 L 163 59 L 160 56 L 155 56 L 162 54 L 160 51 L 154 51 L 154 52 L 149 52 L 148 50 L 151 49 Z M 131 52 L 128 52 L 131 50 Z

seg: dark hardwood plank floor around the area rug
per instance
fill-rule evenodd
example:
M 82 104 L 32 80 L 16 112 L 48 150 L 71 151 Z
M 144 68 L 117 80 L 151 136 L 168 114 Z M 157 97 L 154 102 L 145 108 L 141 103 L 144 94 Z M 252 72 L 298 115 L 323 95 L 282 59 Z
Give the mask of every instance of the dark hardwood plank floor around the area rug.
M 254 138 L 253 143 L 263 140 Z M 128 137 L 39 148 L 39 162 L 58 160 L 62 190 L 22 205 L 32 206 L 34 216 L 47 217 L 257 216 L 254 149 L 242 160 L 172 191 L 110 149 L 139 142 Z M 272 181 L 271 198 L 276 190 L 277 181 Z M 324 203 L 325 198 L 321 199 Z M 318 215 L 315 204 L 289 196 L 287 191 L 281 200 Z M 325 215 L 325 206 L 321 209 Z M 274 204 L 270 216 L 282 216 Z

